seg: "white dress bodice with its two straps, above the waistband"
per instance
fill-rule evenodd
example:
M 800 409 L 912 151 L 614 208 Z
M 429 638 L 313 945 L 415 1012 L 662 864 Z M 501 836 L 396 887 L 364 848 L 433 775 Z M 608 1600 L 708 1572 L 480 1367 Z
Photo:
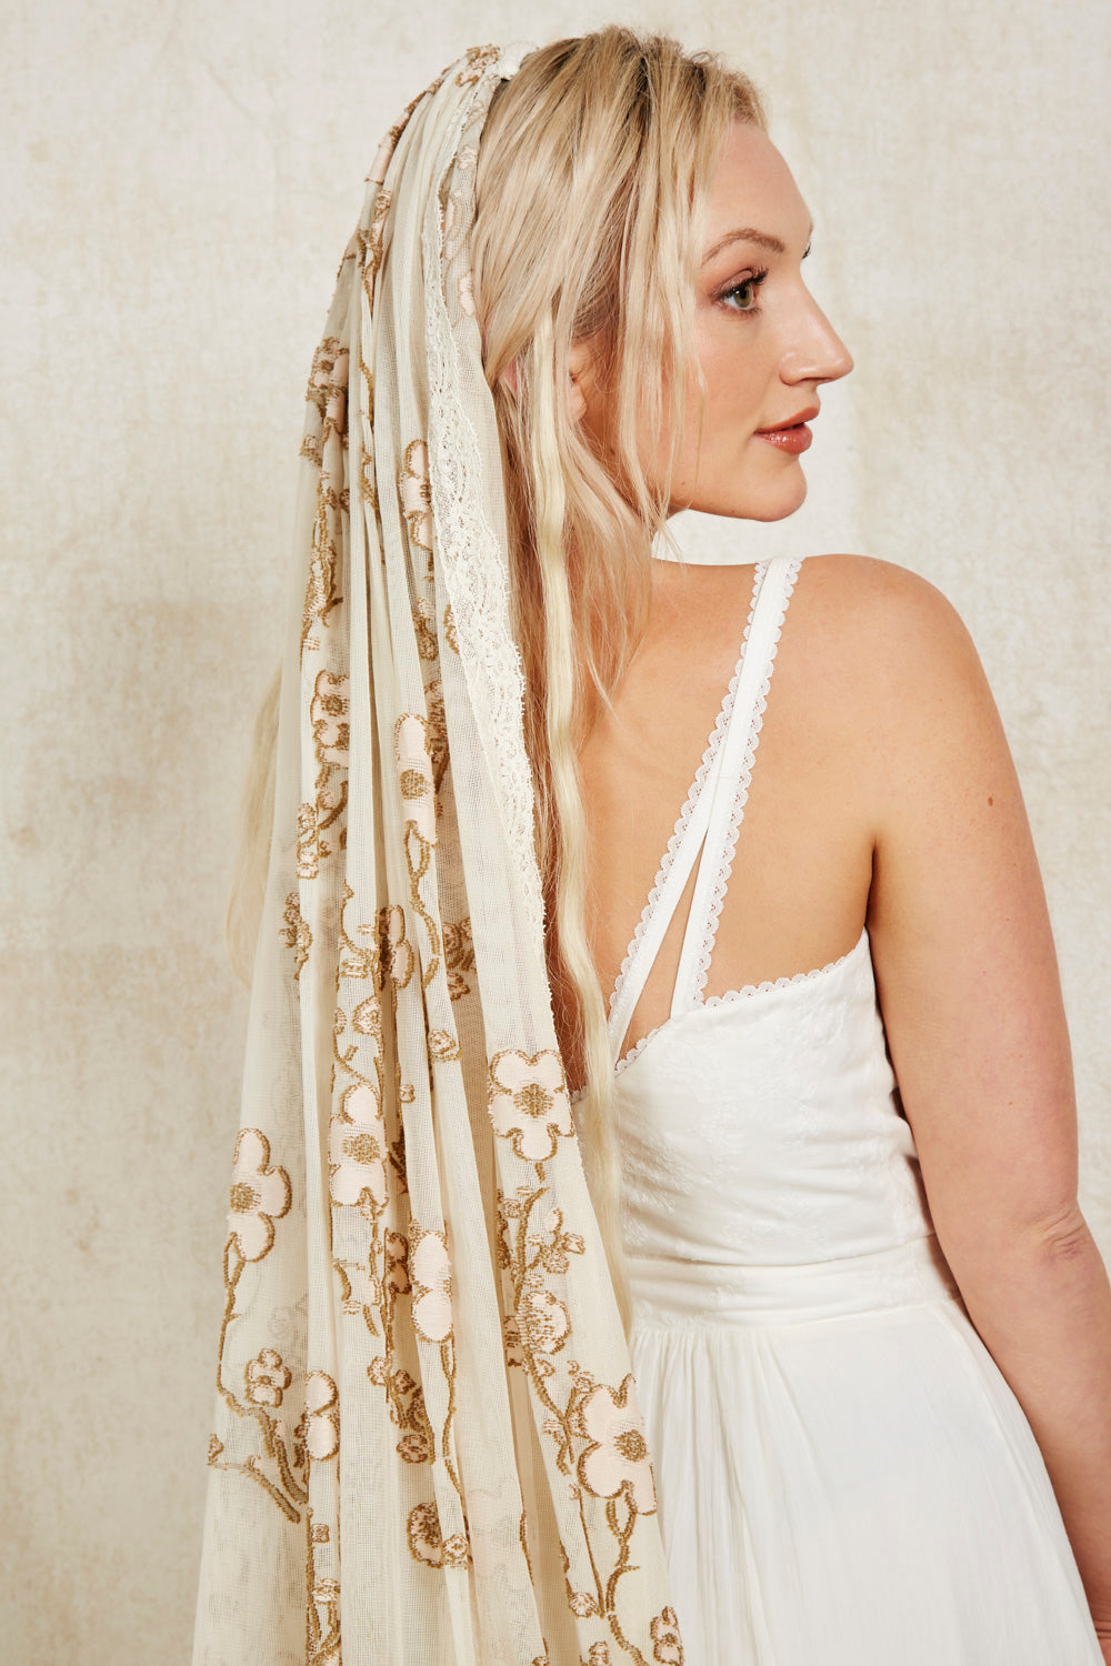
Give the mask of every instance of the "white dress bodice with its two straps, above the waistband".
M 931 1235 L 868 933 L 828 966 L 703 995 L 798 561 L 756 568 L 738 671 L 611 1000 L 611 1045 L 696 871 L 671 1016 L 616 1063 L 630 1258 L 801 1266 Z

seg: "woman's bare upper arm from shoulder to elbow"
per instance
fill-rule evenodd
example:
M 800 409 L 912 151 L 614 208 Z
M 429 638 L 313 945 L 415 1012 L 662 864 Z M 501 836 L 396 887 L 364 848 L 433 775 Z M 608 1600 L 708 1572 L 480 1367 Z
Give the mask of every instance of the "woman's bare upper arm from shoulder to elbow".
M 924 580 L 881 570 L 868 926 L 891 1061 L 958 1281 L 1076 1203 L 1056 955 L 1018 776 L 976 650 Z

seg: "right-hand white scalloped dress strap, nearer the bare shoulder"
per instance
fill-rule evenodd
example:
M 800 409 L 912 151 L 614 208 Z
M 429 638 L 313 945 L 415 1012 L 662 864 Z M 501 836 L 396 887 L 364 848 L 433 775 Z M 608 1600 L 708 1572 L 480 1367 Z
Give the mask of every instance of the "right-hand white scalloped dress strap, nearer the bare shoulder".
M 755 738 L 760 731 L 763 713 L 763 696 L 771 680 L 780 630 L 791 590 L 795 588 L 798 568 L 798 556 L 775 556 L 768 563 L 753 608 L 753 623 L 748 631 L 748 646 L 733 698 L 730 730 L 716 758 L 718 770 L 715 771 L 713 791 L 703 795 L 708 800 L 705 816 L 706 838 L 701 846 L 695 895 L 680 951 L 680 970 L 671 996 L 671 1018 L 678 1018 L 680 1013 L 695 1006 L 700 983 L 705 976 L 705 948 L 713 943 L 716 931 L 713 913 L 715 891 L 718 890 L 721 875 L 728 873 L 728 858 L 736 840 L 740 820 L 736 815 L 738 791 L 741 778 L 746 778 L 746 770 L 751 766 Z

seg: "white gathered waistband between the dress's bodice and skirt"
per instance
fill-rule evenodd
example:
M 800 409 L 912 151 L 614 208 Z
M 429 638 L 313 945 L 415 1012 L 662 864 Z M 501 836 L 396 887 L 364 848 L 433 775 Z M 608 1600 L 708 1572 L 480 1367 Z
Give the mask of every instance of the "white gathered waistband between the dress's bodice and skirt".
M 959 1301 L 933 1233 L 869 1254 L 801 1266 L 630 1254 L 628 1273 L 636 1324 L 806 1324 L 876 1308 Z

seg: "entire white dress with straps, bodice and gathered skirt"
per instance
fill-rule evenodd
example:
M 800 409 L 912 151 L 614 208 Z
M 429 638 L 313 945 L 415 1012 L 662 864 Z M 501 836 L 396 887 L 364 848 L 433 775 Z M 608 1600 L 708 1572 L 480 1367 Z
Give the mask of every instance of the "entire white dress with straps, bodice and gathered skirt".
M 701 851 L 671 1016 L 615 1080 L 685 1666 L 1103 1666 L 1041 1453 L 933 1235 L 866 933 L 701 993 L 796 570 L 756 570 L 611 1000 L 616 1058 Z

